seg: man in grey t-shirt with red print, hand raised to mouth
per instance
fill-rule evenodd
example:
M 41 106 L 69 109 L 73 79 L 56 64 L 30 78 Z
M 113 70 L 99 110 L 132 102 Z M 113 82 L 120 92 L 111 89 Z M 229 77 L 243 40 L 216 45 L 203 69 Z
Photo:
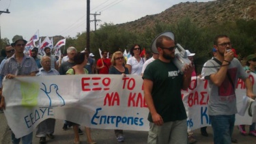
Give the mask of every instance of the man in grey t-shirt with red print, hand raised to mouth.
M 214 39 L 216 55 L 205 63 L 202 76 L 208 80 L 208 114 L 212 121 L 214 143 L 231 143 L 235 124 L 236 84 L 242 78 L 246 85 L 246 95 L 255 98 L 253 86 L 240 61 L 234 58 L 231 42 L 227 35 L 217 35 Z

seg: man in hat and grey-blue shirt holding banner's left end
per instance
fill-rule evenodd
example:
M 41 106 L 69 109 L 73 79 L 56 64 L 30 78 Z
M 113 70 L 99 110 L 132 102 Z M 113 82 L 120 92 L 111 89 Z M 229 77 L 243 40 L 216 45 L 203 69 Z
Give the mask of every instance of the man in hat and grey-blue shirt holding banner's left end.
M 35 60 L 33 57 L 24 55 L 23 51 L 27 41 L 23 39 L 21 35 L 15 35 L 12 38 L 12 47 L 15 49 L 14 55 L 7 59 L 3 65 L 3 69 L 0 74 L 5 76 L 5 78 L 15 78 L 22 76 L 35 76 L 35 72 L 38 72 L 38 66 L 36 66 Z M 3 86 L 4 87 L 4 86 Z M 6 87 L 6 89 L 8 89 Z M 0 107 L 5 109 L 5 99 L 4 96 L 1 98 Z M 15 115 L 15 112 L 14 112 Z M 20 117 L 22 118 L 22 117 Z M 23 144 L 32 143 L 33 134 L 27 134 L 26 136 L 21 137 Z M 20 139 L 16 139 L 14 133 L 12 132 L 12 143 L 19 143 Z

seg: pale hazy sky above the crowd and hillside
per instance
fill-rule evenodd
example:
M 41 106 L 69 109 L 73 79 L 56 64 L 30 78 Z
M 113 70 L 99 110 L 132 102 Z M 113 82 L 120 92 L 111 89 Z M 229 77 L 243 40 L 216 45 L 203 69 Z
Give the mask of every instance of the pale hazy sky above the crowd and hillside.
M 172 5 L 195 0 L 91 0 L 90 14 L 104 23 L 120 24 L 137 20 L 146 15 L 159 14 Z M 212 0 L 197 0 L 207 2 Z M 74 38 L 86 31 L 87 0 L 0 0 L 1 38 L 12 42 L 14 35 L 29 40 L 36 31 L 40 36 L 62 35 Z M 94 16 L 90 16 L 94 20 Z M 94 22 L 90 30 L 94 31 Z

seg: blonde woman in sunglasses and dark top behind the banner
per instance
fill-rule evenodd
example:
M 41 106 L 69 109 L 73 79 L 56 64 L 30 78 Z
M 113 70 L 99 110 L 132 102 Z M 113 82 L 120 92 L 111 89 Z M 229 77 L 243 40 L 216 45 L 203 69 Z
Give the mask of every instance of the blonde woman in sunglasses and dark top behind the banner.
M 129 74 L 128 68 L 124 67 L 124 55 L 121 51 L 113 53 L 111 64 L 109 74 L 122 74 L 123 76 Z M 115 130 L 115 136 L 117 136 L 118 142 L 124 141 L 123 130 Z

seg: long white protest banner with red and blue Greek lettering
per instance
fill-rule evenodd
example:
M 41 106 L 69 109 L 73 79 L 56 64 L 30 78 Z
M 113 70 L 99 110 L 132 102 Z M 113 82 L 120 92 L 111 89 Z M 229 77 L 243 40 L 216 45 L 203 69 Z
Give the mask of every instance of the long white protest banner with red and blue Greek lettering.
M 255 78 L 255 74 L 250 75 L 253 89 Z M 190 88 L 182 91 L 190 130 L 210 126 L 207 87 L 208 81 L 193 77 Z M 246 89 L 242 80 L 236 87 L 241 109 Z M 5 79 L 3 96 L 5 116 L 17 138 L 48 118 L 66 119 L 90 128 L 149 130 L 141 76 L 79 74 Z M 236 115 L 236 125 L 251 122 L 248 113 Z

